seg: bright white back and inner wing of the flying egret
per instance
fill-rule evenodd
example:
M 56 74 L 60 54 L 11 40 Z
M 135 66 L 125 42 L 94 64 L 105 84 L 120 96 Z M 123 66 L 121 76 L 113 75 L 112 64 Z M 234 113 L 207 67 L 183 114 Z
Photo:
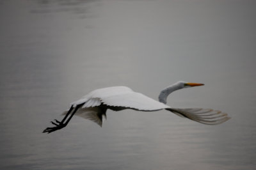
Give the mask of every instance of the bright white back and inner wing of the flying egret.
M 136 93 L 125 86 L 96 89 L 80 100 L 73 102 L 72 105 L 76 106 L 83 103 L 83 108 L 99 106 L 102 103 L 113 107 L 127 107 L 140 111 L 158 111 L 170 108 L 168 105 L 141 93 Z

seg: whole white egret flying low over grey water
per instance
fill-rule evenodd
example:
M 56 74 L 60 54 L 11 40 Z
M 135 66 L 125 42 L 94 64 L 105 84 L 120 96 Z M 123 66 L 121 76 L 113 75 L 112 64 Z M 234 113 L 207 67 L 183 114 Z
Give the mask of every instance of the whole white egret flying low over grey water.
M 179 116 L 207 125 L 217 125 L 230 119 L 227 113 L 214 111 L 212 109 L 177 109 L 166 105 L 166 99 L 173 91 L 203 85 L 204 84 L 193 82 L 176 82 L 161 91 L 159 94 L 159 102 L 141 93 L 134 92 L 132 89 L 125 86 L 96 89 L 76 102 L 72 102 L 70 109 L 63 112 L 65 115 L 63 120 L 54 120 L 55 122 L 51 121 L 55 127 L 45 128 L 43 133 L 51 133 L 66 127 L 74 115 L 92 120 L 102 126 L 102 118 L 106 118 L 107 109 L 113 111 L 133 109 L 145 112 L 166 109 Z

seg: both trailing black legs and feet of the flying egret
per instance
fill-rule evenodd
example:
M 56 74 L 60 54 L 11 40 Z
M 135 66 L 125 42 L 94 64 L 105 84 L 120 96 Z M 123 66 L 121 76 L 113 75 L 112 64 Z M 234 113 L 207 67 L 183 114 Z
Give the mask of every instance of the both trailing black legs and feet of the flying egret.
M 71 120 L 71 118 L 74 116 L 74 114 L 76 113 L 77 109 L 79 109 L 81 105 L 77 105 L 75 110 L 72 112 L 72 110 L 74 109 L 73 105 L 70 107 L 69 111 L 67 112 L 67 114 L 65 115 L 65 117 L 63 118 L 63 120 L 61 121 L 58 121 L 58 120 L 54 120 L 56 121 L 56 123 L 54 123 L 53 121 L 51 121 L 51 123 L 53 125 L 55 125 L 56 127 L 48 127 L 48 128 L 45 128 L 45 130 L 43 131 L 43 133 L 51 133 L 51 132 L 54 132 L 56 130 L 60 130 L 61 128 L 64 128 L 67 126 L 68 122 Z M 68 118 L 68 120 L 65 122 L 65 120 L 67 119 L 68 115 L 71 114 L 71 116 Z M 65 122 L 65 123 L 64 123 Z

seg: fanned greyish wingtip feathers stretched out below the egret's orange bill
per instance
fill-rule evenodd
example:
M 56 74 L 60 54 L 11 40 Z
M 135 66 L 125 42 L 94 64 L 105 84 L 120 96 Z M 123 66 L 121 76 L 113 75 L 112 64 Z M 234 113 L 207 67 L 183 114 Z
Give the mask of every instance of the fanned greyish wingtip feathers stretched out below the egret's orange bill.
M 212 109 L 202 109 L 202 108 L 193 108 L 193 109 L 177 109 L 177 108 L 168 108 L 166 109 L 171 111 L 179 116 L 189 118 L 189 120 L 198 121 L 199 123 L 204 123 L 207 125 L 218 125 L 230 119 L 227 113 L 221 111 L 214 111 Z

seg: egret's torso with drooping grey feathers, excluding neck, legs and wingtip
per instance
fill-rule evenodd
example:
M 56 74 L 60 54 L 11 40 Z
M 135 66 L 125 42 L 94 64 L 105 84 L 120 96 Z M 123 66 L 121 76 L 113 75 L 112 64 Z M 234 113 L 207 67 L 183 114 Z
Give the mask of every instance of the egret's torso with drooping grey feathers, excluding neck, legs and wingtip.
M 83 98 L 72 102 L 71 105 L 81 105 L 76 116 L 92 120 L 102 125 L 102 116 L 106 118 L 106 110 L 121 111 L 134 109 L 136 111 L 159 111 L 170 108 L 168 105 L 149 98 L 141 93 L 136 93 L 125 86 L 96 89 Z M 67 114 L 68 111 L 63 112 Z

